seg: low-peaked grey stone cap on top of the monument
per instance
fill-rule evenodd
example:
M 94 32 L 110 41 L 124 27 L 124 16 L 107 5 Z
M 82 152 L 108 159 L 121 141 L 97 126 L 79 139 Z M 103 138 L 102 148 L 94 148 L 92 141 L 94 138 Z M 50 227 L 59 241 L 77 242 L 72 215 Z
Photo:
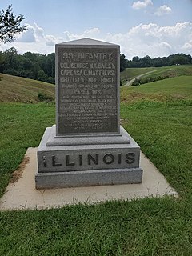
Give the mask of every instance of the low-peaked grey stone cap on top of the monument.
M 58 45 L 79 45 L 79 46 L 118 46 L 110 42 L 102 42 L 99 40 L 94 40 L 90 38 L 82 38 L 78 40 L 73 40 L 69 42 L 61 42 Z

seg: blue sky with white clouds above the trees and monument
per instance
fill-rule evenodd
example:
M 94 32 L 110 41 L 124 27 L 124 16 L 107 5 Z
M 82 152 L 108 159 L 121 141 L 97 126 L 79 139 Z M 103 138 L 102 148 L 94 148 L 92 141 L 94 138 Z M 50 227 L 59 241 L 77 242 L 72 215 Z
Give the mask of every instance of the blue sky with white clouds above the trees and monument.
M 192 0 L 0 0 L 14 14 L 26 16 L 28 30 L 11 44 L 49 54 L 55 43 L 94 38 L 121 46 L 131 59 L 192 54 Z

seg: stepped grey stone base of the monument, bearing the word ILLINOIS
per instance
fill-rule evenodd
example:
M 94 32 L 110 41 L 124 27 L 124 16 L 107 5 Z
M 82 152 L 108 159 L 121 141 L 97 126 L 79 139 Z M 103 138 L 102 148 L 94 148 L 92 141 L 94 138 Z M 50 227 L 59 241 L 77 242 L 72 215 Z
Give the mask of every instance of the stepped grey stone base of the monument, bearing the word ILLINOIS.
M 140 148 L 122 126 L 117 137 L 80 141 L 71 145 L 69 138 L 56 137 L 55 126 L 46 128 L 38 146 L 37 189 L 142 182 Z

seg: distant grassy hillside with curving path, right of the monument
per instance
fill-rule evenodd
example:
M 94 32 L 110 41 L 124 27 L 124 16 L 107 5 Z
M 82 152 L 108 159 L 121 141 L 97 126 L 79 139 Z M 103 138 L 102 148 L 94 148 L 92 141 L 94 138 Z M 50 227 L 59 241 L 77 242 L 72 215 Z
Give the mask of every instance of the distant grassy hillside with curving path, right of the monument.
M 150 73 L 149 73 L 150 72 Z M 180 75 L 192 75 L 192 66 L 162 66 L 162 67 L 146 67 L 146 68 L 128 68 L 121 73 L 122 85 L 140 74 L 145 74 L 142 78 L 157 77 L 159 75 L 169 75 L 170 78 Z

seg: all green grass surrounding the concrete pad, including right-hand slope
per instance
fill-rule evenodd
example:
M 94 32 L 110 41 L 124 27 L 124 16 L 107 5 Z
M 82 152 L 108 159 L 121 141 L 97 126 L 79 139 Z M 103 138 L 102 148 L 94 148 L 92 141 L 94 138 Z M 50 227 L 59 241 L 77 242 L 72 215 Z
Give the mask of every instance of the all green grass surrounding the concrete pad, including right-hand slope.
M 186 76 L 121 88 L 123 126 L 179 198 L 1 212 L 0 255 L 190 256 L 190 81 Z M 46 103 L 0 103 L 1 195 L 26 148 L 38 146 L 46 126 L 54 123 L 54 109 Z

